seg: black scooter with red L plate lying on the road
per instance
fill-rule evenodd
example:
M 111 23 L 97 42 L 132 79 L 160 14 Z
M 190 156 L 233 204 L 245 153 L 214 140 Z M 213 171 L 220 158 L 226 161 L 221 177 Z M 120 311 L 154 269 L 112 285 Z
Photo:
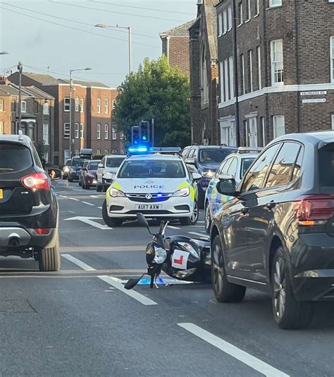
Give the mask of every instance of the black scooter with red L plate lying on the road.
M 150 288 L 156 285 L 161 271 L 177 280 L 187 282 L 204 282 L 210 278 L 210 242 L 209 239 L 194 239 L 185 236 L 166 237 L 168 221 L 161 222 L 159 232 L 151 233 L 149 223 L 142 213 L 137 213 L 140 225 L 147 227 L 152 241 L 146 248 L 147 273 L 138 279 L 130 279 L 125 289 L 135 287 L 144 275 L 151 277 Z

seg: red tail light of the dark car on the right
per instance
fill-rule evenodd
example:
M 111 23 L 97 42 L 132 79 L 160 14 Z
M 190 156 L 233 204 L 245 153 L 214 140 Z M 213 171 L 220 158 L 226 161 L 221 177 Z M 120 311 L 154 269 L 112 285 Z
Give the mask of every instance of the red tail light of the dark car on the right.
M 324 225 L 334 215 L 334 196 L 309 195 L 299 198 L 295 216 L 299 225 Z

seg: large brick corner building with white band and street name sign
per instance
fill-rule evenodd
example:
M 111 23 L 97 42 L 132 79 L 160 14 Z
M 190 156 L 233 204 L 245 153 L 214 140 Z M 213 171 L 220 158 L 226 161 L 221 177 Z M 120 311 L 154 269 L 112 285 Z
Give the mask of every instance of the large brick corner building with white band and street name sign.
M 221 0 L 216 13 L 221 143 L 334 129 L 333 1 Z

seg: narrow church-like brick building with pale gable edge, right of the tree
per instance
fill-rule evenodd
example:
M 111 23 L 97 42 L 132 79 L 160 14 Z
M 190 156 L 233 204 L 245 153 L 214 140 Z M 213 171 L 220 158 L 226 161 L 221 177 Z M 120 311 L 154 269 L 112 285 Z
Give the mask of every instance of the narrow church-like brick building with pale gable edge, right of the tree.
M 217 0 L 199 0 L 190 27 L 190 107 L 192 143 L 216 144 L 217 122 Z

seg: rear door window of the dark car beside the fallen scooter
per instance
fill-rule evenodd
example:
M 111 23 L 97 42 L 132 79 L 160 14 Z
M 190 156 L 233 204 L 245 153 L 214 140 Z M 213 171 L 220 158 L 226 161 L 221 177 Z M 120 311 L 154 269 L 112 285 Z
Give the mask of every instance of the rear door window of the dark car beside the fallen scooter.
M 291 181 L 300 148 L 297 143 L 283 144 L 271 167 L 266 187 L 284 186 Z

